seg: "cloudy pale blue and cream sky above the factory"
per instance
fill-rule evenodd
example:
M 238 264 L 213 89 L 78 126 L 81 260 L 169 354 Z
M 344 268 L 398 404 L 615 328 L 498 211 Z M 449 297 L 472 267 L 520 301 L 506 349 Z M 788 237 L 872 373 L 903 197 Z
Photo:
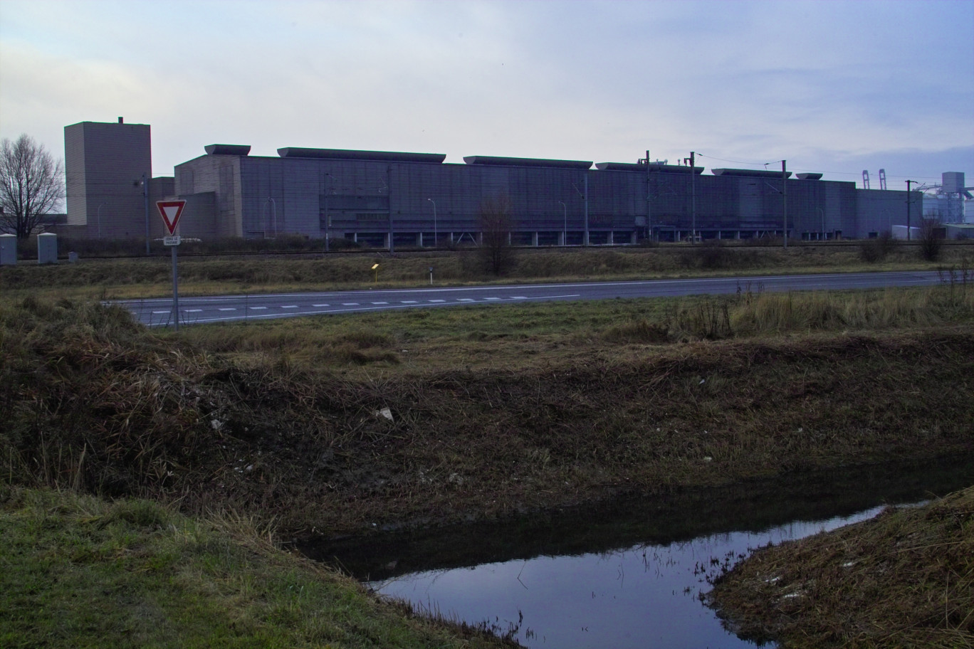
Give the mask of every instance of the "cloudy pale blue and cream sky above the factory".
M 974 0 L 0 0 L 0 136 L 821 171 L 974 185 Z

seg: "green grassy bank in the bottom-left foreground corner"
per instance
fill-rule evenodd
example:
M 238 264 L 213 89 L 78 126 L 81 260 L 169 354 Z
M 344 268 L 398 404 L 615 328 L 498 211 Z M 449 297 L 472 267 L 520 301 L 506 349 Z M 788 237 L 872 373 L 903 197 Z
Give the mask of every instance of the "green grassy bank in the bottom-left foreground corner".
M 250 520 L 0 487 L 0 645 L 500 647 L 379 601 Z

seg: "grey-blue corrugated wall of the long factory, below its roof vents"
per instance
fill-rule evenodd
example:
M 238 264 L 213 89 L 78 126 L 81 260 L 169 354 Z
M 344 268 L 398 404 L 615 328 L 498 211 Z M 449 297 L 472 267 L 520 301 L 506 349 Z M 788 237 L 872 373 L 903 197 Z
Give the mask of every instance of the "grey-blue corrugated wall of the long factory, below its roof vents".
M 586 177 L 594 242 L 628 242 L 635 234 L 644 236 L 648 226 L 689 234 L 694 200 L 696 229 L 704 238 L 780 235 L 784 226 L 780 178 L 698 174 L 692 194 L 689 167 L 687 173 L 647 174 L 212 155 L 177 166 L 176 189 L 180 195 L 215 193 L 219 235 L 318 237 L 327 229 L 332 237 L 368 234 L 370 241 L 381 242 L 391 229 L 408 240 L 434 230 L 441 236 L 475 233 L 482 201 L 506 197 L 515 229 L 524 233 L 521 238 L 554 243 L 563 230 L 574 233 L 570 241 L 581 242 Z M 876 201 L 893 205 L 903 200 L 897 198 L 902 193 L 879 190 L 864 197 L 854 183 L 786 182 L 793 238 L 819 238 L 823 230 L 830 238 L 835 231 L 865 236 L 880 220 Z

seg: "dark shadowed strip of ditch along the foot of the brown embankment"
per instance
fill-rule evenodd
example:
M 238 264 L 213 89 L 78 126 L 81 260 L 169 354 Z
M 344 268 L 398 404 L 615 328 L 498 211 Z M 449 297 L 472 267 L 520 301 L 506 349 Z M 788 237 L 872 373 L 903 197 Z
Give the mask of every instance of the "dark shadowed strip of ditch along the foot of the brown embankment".
M 364 581 L 540 556 L 605 555 L 795 521 L 826 521 L 890 503 L 917 502 L 974 485 L 974 454 L 890 462 L 619 497 L 503 521 L 461 523 L 298 542 L 305 556 Z M 724 558 L 722 558 L 724 559 Z M 714 568 L 714 572 L 718 570 Z

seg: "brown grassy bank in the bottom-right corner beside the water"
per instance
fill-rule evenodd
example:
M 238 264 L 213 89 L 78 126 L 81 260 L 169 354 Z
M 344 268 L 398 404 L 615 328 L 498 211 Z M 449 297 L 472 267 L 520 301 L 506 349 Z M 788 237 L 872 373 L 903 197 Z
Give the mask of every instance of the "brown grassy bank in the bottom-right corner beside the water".
M 970 647 L 974 487 L 763 549 L 708 600 L 742 635 L 782 647 Z

